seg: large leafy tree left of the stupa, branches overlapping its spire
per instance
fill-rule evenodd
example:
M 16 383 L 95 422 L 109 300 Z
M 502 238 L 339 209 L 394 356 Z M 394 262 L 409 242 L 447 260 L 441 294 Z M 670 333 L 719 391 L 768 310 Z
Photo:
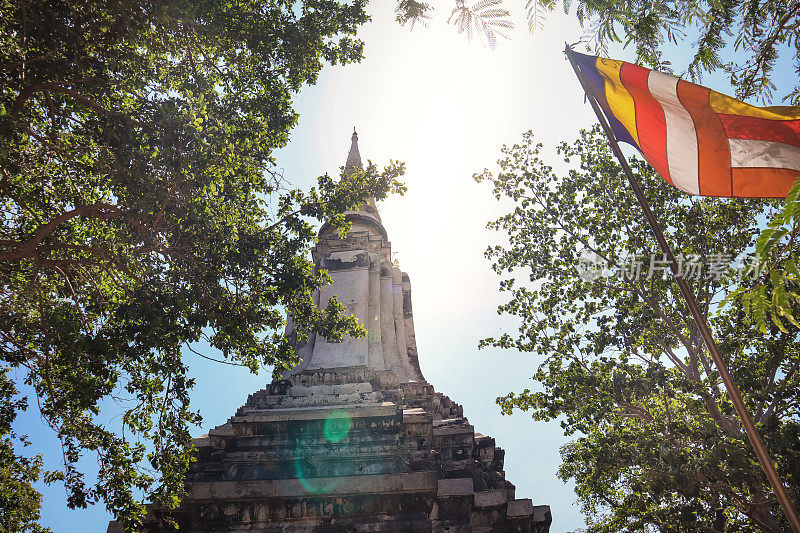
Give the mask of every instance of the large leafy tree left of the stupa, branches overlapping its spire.
M 144 512 L 137 494 L 179 501 L 200 419 L 190 343 L 280 372 L 294 360 L 285 311 L 332 340 L 364 333 L 335 300 L 314 305 L 328 277 L 307 259 L 313 224 L 344 228 L 342 213 L 367 196 L 402 192 L 403 165 L 302 191 L 273 159 L 297 121 L 292 95 L 324 64 L 361 58 L 364 5 L 2 3 L 4 518 L 35 520 L 40 468 L 11 428 L 25 402 L 9 369 L 63 445 L 63 469 L 45 480 L 65 483 L 71 507 L 103 501 L 130 529 Z M 124 413 L 117 430 L 100 409 L 110 400 Z M 101 464 L 96 484 L 77 467 L 87 453 Z

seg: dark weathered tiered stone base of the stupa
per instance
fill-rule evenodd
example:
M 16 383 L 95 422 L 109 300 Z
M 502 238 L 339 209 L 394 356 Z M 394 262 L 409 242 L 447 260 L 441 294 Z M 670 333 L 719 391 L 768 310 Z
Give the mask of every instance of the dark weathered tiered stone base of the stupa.
M 515 499 L 504 451 L 460 405 L 392 381 L 304 372 L 252 394 L 196 439 L 180 531 L 549 531 L 549 507 Z

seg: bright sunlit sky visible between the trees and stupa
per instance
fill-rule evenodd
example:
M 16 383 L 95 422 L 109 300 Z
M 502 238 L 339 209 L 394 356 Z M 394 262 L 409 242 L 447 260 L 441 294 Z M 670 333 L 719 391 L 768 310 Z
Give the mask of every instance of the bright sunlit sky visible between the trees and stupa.
M 519 8 L 523 2 L 509 4 Z M 423 374 L 464 406 L 476 432 L 494 437 L 506 450 L 506 477 L 516 485 L 517 498 L 550 505 L 553 533 L 575 531 L 584 519 L 572 486 L 556 477 L 559 447 L 567 441 L 558 421 L 534 422 L 525 413 L 501 416 L 495 404 L 498 396 L 533 387 L 530 376 L 539 361 L 513 351 L 477 349 L 481 338 L 516 327 L 497 315 L 504 301 L 499 278 L 483 257 L 487 246 L 501 241 L 486 223 L 508 205 L 498 203 L 490 186 L 475 183 L 472 175 L 494 168 L 500 147 L 517 142 L 524 131 L 533 130 L 545 153 L 552 153 L 559 141 L 574 139 L 595 122 L 562 53 L 564 43 L 579 40 L 582 30 L 575 17 L 557 11 L 530 34 L 518 9 L 512 39 L 499 40 L 491 50 L 446 23 L 448 1 L 437 3 L 441 7 L 427 28 L 413 31 L 394 21 L 393 5 L 370 3 L 372 22 L 360 33 L 365 42 L 361 63 L 328 67 L 315 86 L 297 95 L 300 120 L 278 164 L 298 186 L 312 185 L 326 172 L 338 174 L 353 127 L 365 162 L 406 163 L 407 194 L 378 208 L 394 257 L 411 278 Z M 615 59 L 633 59 L 631 50 L 612 50 Z M 715 88 L 728 86 L 719 78 Z M 248 394 L 270 380 L 268 371 L 252 375 L 188 357 L 197 376 L 192 401 L 204 417 L 198 436 L 225 423 Z M 46 466 L 57 468 L 55 439 L 35 427 L 33 413 L 26 416 L 29 434 L 45 447 Z M 42 522 L 55 533 L 105 531 L 110 516 L 100 506 L 71 511 L 63 487 L 42 491 Z

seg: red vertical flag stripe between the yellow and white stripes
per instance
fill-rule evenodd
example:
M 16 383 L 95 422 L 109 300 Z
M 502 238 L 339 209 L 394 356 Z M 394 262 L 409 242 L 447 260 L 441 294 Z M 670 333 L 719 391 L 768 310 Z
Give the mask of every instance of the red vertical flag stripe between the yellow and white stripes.
M 661 177 L 672 184 L 667 164 L 667 125 L 664 120 L 664 109 L 647 88 L 648 74 L 650 74 L 649 69 L 632 63 L 623 63 L 619 77 L 633 97 L 636 109 L 636 133 L 639 136 L 642 153 Z

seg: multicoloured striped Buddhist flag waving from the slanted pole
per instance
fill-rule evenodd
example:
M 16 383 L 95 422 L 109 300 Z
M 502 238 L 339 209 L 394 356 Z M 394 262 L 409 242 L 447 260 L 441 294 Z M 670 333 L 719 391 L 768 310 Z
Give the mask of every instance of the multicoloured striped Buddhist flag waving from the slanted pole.
M 617 140 L 675 187 L 785 197 L 800 176 L 800 107 L 755 107 L 639 65 L 570 54 Z

